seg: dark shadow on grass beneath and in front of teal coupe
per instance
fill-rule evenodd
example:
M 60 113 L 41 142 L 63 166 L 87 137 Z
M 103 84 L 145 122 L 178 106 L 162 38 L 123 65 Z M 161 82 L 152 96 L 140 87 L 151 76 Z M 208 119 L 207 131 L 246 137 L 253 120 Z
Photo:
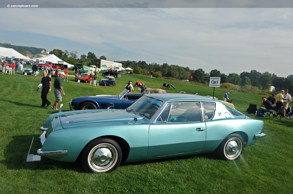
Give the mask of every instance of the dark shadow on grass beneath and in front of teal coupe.
M 32 147 L 30 149 L 30 154 L 36 155 L 36 151 L 42 147 L 42 144 L 39 140 L 39 135 L 22 135 L 22 136 L 13 136 L 12 141 L 4 148 L 4 160 L 1 160 L 0 163 L 5 165 L 7 169 L 21 170 L 21 169 L 30 169 L 30 170 L 49 170 L 49 169 L 67 169 L 76 172 L 86 172 L 82 166 L 81 158 L 77 158 L 76 162 L 60 162 L 56 160 L 51 160 L 46 157 L 41 157 L 40 161 L 26 162 L 26 157 L 28 150 L 30 148 L 30 143 L 34 137 Z M 197 154 L 197 155 L 187 155 L 187 156 L 178 156 L 172 158 L 161 158 L 156 160 L 145 160 L 140 162 L 122 162 L 120 166 L 128 165 L 142 165 L 147 163 L 157 163 L 171 160 L 184 160 L 190 158 L 207 158 L 218 160 L 217 156 L 214 153 L 208 154 Z

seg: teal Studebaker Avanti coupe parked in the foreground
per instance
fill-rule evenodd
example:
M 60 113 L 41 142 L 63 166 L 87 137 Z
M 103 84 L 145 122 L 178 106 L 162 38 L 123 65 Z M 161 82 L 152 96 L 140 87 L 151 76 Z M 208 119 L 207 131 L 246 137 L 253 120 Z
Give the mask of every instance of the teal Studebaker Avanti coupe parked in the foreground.
M 109 172 L 133 162 L 216 152 L 238 159 L 265 137 L 253 120 L 219 100 L 189 94 L 146 94 L 124 110 L 54 113 L 40 128 L 37 157 L 75 162 L 87 172 Z

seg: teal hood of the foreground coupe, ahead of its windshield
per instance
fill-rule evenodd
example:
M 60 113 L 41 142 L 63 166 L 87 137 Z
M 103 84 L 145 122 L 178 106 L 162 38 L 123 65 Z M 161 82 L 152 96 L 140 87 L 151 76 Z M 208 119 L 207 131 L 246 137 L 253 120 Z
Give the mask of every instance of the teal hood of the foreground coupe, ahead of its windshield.
M 143 118 L 142 116 L 129 113 L 125 110 L 71 113 L 61 115 L 59 118 L 64 129 L 74 129 L 103 125 L 127 124 L 127 122 L 132 120 L 134 116 L 137 116 L 137 119 Z

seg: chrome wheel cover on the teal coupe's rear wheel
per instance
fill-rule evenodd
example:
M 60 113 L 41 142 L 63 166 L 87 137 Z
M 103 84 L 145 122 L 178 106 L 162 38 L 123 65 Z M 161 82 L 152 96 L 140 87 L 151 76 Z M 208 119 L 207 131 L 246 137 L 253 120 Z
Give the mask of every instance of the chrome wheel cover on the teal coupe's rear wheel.
M 231 137 L 225 144 L 225 156 L 229 160 L 239 157 L 242 150 L 242 141 L 238 137 Z

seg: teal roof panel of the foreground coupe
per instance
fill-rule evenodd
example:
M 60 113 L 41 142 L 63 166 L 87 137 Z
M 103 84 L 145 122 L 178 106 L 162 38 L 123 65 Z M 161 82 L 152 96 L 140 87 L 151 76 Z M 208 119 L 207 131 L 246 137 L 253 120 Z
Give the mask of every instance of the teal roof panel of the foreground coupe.
M 216 102 L 215 99 L 198 96 L 193 94 L 174 94 L 174 93 L 159 93 L 159 94 L 146 94 L 147 96 L 161 99 L 166 102 L 177 101 L 202 101 L 202 102 Z

